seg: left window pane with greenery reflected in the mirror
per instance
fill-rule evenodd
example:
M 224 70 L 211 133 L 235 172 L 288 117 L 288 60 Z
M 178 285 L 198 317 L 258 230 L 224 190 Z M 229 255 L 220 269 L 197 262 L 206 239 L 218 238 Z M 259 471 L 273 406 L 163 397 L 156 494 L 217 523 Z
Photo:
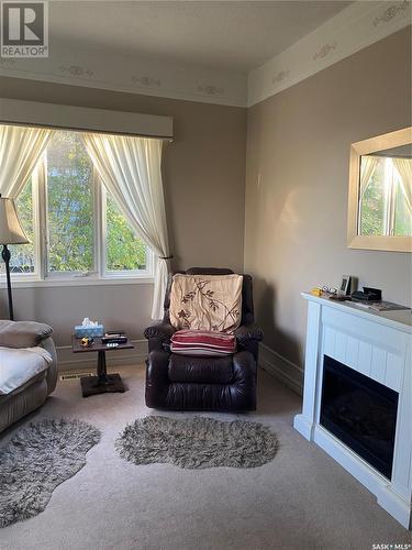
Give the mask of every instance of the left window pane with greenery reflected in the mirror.
M 382 235 L 385 220 L 385 160 L 380 160 L 360 202 L 361 235 Z

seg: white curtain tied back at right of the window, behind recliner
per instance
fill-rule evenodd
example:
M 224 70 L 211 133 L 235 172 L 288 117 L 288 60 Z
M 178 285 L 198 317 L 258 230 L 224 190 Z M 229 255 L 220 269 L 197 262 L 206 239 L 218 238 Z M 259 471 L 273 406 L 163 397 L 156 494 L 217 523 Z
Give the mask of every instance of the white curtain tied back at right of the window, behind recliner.
M 155 252 L 152 318 L 162 319 L 170 257 L 162 182 L 160 140 L 83 133 L 103 184 L 136 234 Z

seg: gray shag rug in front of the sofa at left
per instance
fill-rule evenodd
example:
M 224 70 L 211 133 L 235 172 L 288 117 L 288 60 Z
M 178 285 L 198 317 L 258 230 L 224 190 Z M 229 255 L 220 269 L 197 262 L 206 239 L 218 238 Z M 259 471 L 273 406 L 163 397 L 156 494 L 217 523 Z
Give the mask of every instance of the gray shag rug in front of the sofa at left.
M 0 448 L 0 527 L 43 512 L 99 441 L 98 428 L 81 420 L 44 419 L 20 429 Z

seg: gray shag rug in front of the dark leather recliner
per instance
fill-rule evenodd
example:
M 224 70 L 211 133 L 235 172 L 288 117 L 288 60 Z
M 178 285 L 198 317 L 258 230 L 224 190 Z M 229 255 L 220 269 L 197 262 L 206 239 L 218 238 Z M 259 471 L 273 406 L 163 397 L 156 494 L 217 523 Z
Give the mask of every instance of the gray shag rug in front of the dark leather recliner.
M 258 422 L 148 416 L 126 426 L 115 447 L 123 459 L 134 464 L 256 468 L 275 458 L 279 441 L 269 428 Z

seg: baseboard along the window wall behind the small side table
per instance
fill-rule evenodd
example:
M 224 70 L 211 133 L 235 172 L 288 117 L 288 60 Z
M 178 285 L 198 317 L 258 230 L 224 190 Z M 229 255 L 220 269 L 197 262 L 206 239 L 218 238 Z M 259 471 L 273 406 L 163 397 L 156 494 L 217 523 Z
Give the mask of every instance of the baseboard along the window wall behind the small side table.
M 131 340 L 131 343 L 134 345 L 132 350 L 108 351 L 105 359 L 109 367 L 143 363 L 147 358 L 147 341 Z M 96 370 L 97 353 L 73 353 L 71 345 L 59 345 L 56 351 L 58 371 L 60 372 Z

